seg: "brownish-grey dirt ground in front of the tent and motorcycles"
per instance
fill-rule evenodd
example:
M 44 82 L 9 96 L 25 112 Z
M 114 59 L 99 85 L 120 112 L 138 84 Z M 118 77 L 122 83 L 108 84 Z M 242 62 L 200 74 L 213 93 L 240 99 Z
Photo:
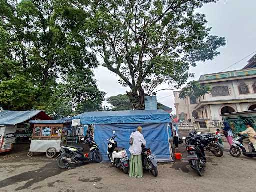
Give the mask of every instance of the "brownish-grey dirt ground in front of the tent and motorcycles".
M 225 146 L 227 146 L 225 144 Z M 44 153 L 27 157 L 28 145 L 0 154 L 0 191 L 255 191 L 256 158 L 207 155 L 203 177 L 188 162 L 159 163 L 158 177 L 130 178 L 109 163 L 59 169 Z M 182 150 L 182 145 L 180 145 Z M 23 150 L 20 150 L 23 149 Z M 227 151 L 227 150 L 226 150 Z

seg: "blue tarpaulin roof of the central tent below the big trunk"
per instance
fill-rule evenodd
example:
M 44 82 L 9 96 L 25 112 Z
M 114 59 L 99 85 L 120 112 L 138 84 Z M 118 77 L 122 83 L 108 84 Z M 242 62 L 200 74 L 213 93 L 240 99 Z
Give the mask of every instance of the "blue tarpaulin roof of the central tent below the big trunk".
M 170 115 L 163 110 L 121 110 L 84 112 L 73 119 L 81 119 L 81 124 L 168 123 Z

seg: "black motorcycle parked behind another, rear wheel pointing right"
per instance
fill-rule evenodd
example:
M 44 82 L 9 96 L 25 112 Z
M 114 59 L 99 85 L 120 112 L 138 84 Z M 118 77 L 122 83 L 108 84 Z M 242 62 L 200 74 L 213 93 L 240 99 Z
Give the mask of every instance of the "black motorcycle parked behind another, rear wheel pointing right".
M 214 156 L 218 156 L 218 157 L 223 156 L 224 152 L 223 152 L 222 145 L 220 144 L 220 142 L 218 142 L 217 136 L 211 133 L 201 133 L 193 129 L 185 140 L 186 144 L 188 144 L 187 139 L 189 137 L 196 136 L 197 134 L 200 134 L 205 139 L 205 142 L 207 143 L 205 145 L 206 151 L 211 152 Z

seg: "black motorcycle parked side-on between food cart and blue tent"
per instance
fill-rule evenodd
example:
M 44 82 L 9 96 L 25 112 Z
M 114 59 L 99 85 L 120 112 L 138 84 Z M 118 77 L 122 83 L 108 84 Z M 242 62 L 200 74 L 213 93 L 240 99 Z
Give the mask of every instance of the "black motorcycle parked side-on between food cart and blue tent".
M 98 149 L 97 143 L 91 138 L 82 138 L 82 144 L 88 143 L 90 146 L 89 153 L 83 153 L 82 146 L 61 146 L 61 152 L 57 157 L 57 164 L 59 168 L 67 168 L 71 164 L 77 163 L 90 163 L 90 162 L 101 162 L 102 155 Z

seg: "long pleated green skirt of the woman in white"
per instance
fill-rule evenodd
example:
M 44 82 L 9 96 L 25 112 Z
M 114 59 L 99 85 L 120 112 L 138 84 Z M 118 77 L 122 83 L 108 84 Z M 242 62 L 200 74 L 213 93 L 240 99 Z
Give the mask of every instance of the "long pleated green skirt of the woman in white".
M 140 155 L 130 155 L 129 176 L 141 178 L 143 176 L 142 158 Z

